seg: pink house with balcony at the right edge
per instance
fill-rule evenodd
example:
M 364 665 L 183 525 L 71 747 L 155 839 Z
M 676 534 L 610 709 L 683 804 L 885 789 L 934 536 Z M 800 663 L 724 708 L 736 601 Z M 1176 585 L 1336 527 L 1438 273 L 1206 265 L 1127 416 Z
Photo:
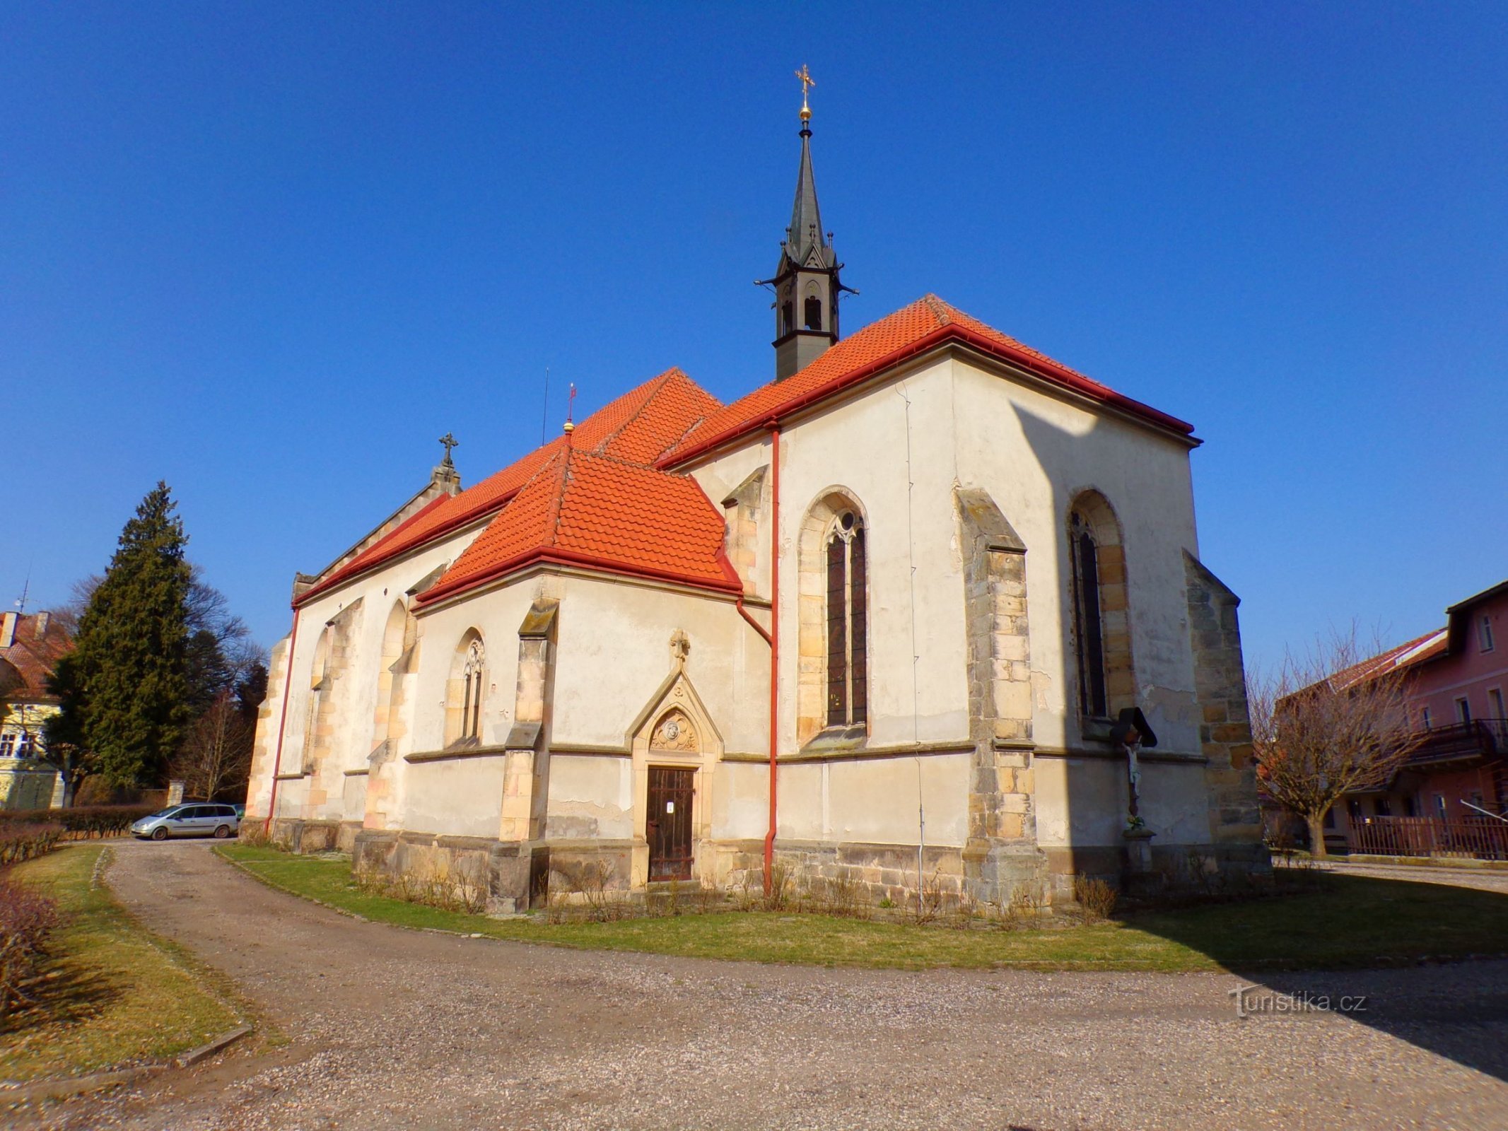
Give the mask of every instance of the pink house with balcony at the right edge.
M 1508 822 L 1499 819 L 1508 816 L 1508 581 L 1445 615 L 1445 627 L 1360 665 L 1407 671 L 1424 740 L 1390 781 L 1332 810 L 1327 826 L 1354 852 L 1508 852 Z

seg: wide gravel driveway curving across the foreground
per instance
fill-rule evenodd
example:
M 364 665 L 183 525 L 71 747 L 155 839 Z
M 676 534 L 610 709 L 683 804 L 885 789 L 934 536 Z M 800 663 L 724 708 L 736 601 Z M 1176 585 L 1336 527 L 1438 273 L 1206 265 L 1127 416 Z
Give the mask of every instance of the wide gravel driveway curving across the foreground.
M 1264 979 L 1366 1012 L 1240 1019 L 1226 974 L 814 970 L 529 947 L 354 921 L 204 843 L 110 882 L 291 1045 L 69 1128 L 1508 1126 L 1508 964 Z

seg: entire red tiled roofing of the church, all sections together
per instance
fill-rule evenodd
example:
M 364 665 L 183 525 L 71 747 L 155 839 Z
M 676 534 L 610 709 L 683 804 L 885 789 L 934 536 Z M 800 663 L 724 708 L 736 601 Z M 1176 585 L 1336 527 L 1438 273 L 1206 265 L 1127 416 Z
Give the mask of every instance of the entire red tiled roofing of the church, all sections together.
M 1160 427 L 1193 431 L 929 294 L 838 342 L 793 377 L 728 406 L 680 369 L 667 369 L 594 412 L 569 440 L 556 437 L 475 487 L 425 505 L 296 603 L 489 516 L 487 529 L 421 602 L 537 559 L 736 591 L 737 579 L 722 555 L 722 516 L 695 481 L 668 469 L 947 341 Z

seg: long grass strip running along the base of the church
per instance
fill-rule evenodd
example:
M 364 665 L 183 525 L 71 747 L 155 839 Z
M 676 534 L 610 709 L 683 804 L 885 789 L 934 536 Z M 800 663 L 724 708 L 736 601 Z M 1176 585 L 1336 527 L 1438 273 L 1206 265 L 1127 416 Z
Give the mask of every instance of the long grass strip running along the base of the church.
M 959 930 L 781 912 L 617 923 L 492 920 L 436 911 L 351 882 L 350 863 L 231 844 L 216 852 L 262 882 L 382 923 L 520 942 L 816 965 L 1024 970 L 1298 970 L 1499 953 L 1508 896 L 1321 873 L 1274 899 L 1142 914 L 1093 926 Z

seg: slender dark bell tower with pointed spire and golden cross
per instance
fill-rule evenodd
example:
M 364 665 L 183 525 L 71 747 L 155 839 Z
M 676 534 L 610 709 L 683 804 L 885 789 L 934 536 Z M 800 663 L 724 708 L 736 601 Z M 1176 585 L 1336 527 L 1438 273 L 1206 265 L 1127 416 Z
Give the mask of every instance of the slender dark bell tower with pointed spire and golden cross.
M 838 296 L 857 294 L 838 280 L 843 264 L 832 252 L 831 232 L 822 231 L 817 181 L 811 172 L 811 106 L 807 92 L 816 86 L 805 65 L 801 80 L 801 169 L 796 172 L 796 202 L 790 228 L 780 247 L 775 288 L 775 380 L 807 368 L 838 339 Z

